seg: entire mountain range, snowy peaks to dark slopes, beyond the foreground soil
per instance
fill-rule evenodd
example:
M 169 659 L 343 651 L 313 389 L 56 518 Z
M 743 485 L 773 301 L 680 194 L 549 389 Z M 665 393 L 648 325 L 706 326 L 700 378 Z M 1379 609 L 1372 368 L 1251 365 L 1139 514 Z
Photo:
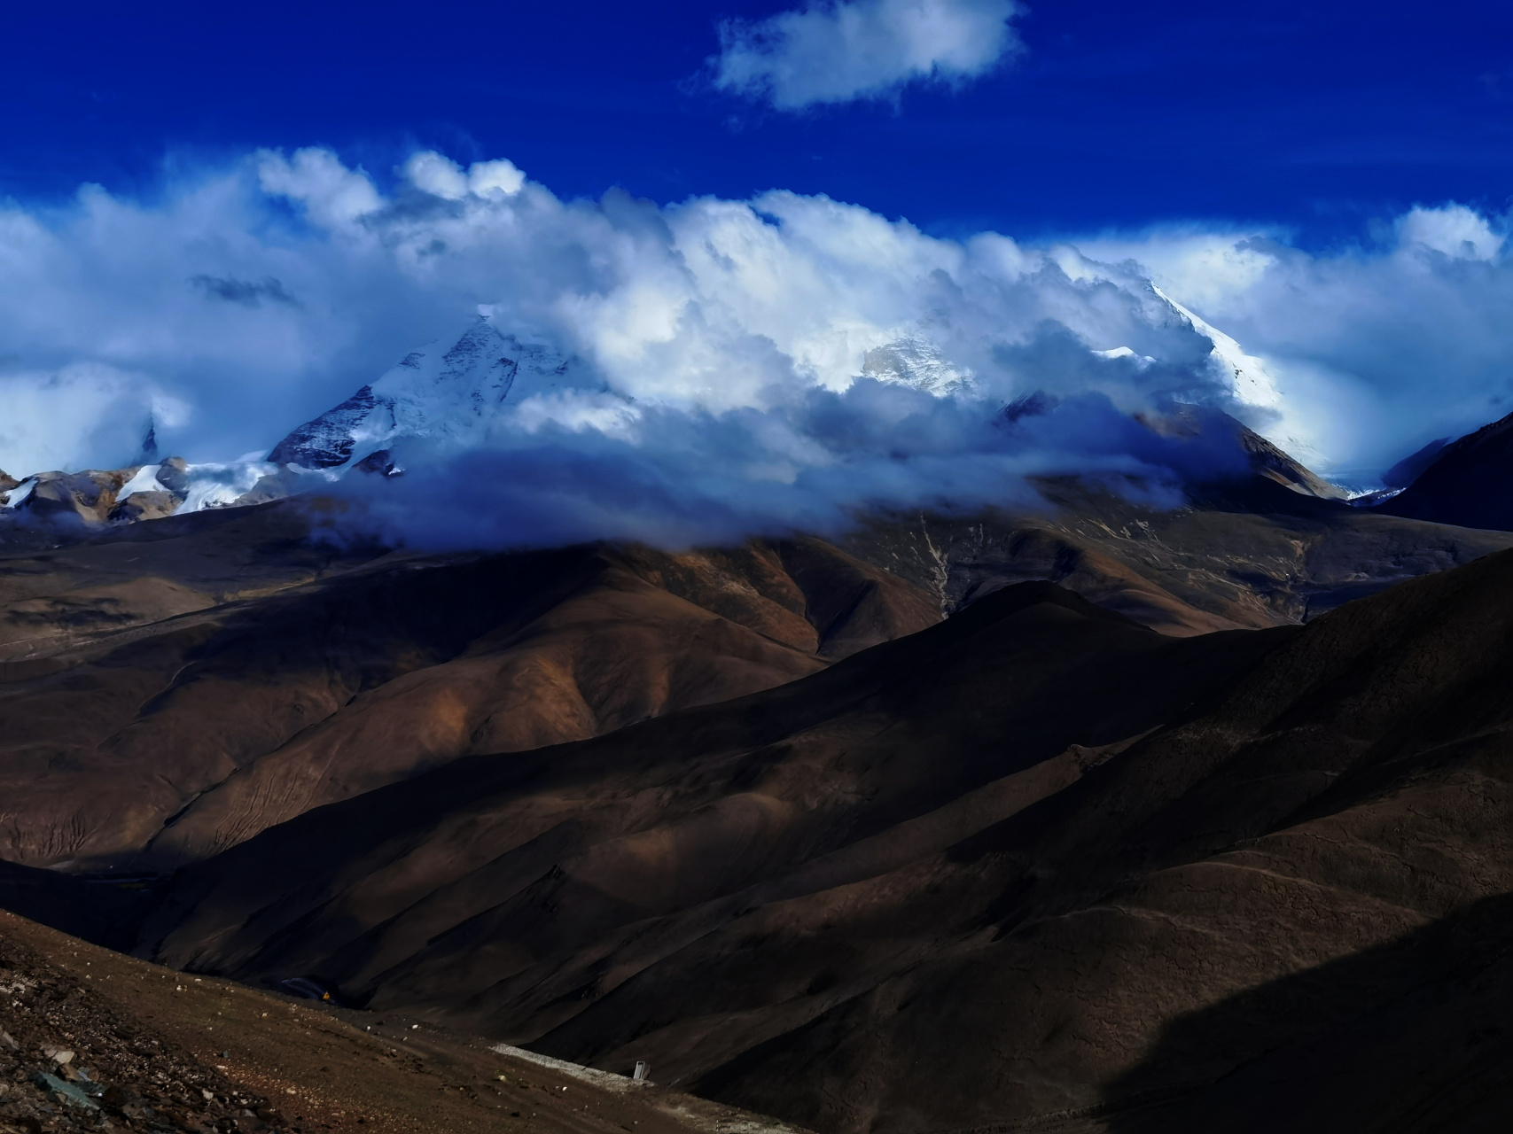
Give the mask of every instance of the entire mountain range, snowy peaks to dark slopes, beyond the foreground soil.
M 1386 499 L 1189 407 L 1141 425 L 1236 461 L 1180 507 L 330 538 L 592 381 L 478 322 L 268 460 L 0 482 L 0 906 L 825 1134 L 1505 1128 L 1513 419 Z

